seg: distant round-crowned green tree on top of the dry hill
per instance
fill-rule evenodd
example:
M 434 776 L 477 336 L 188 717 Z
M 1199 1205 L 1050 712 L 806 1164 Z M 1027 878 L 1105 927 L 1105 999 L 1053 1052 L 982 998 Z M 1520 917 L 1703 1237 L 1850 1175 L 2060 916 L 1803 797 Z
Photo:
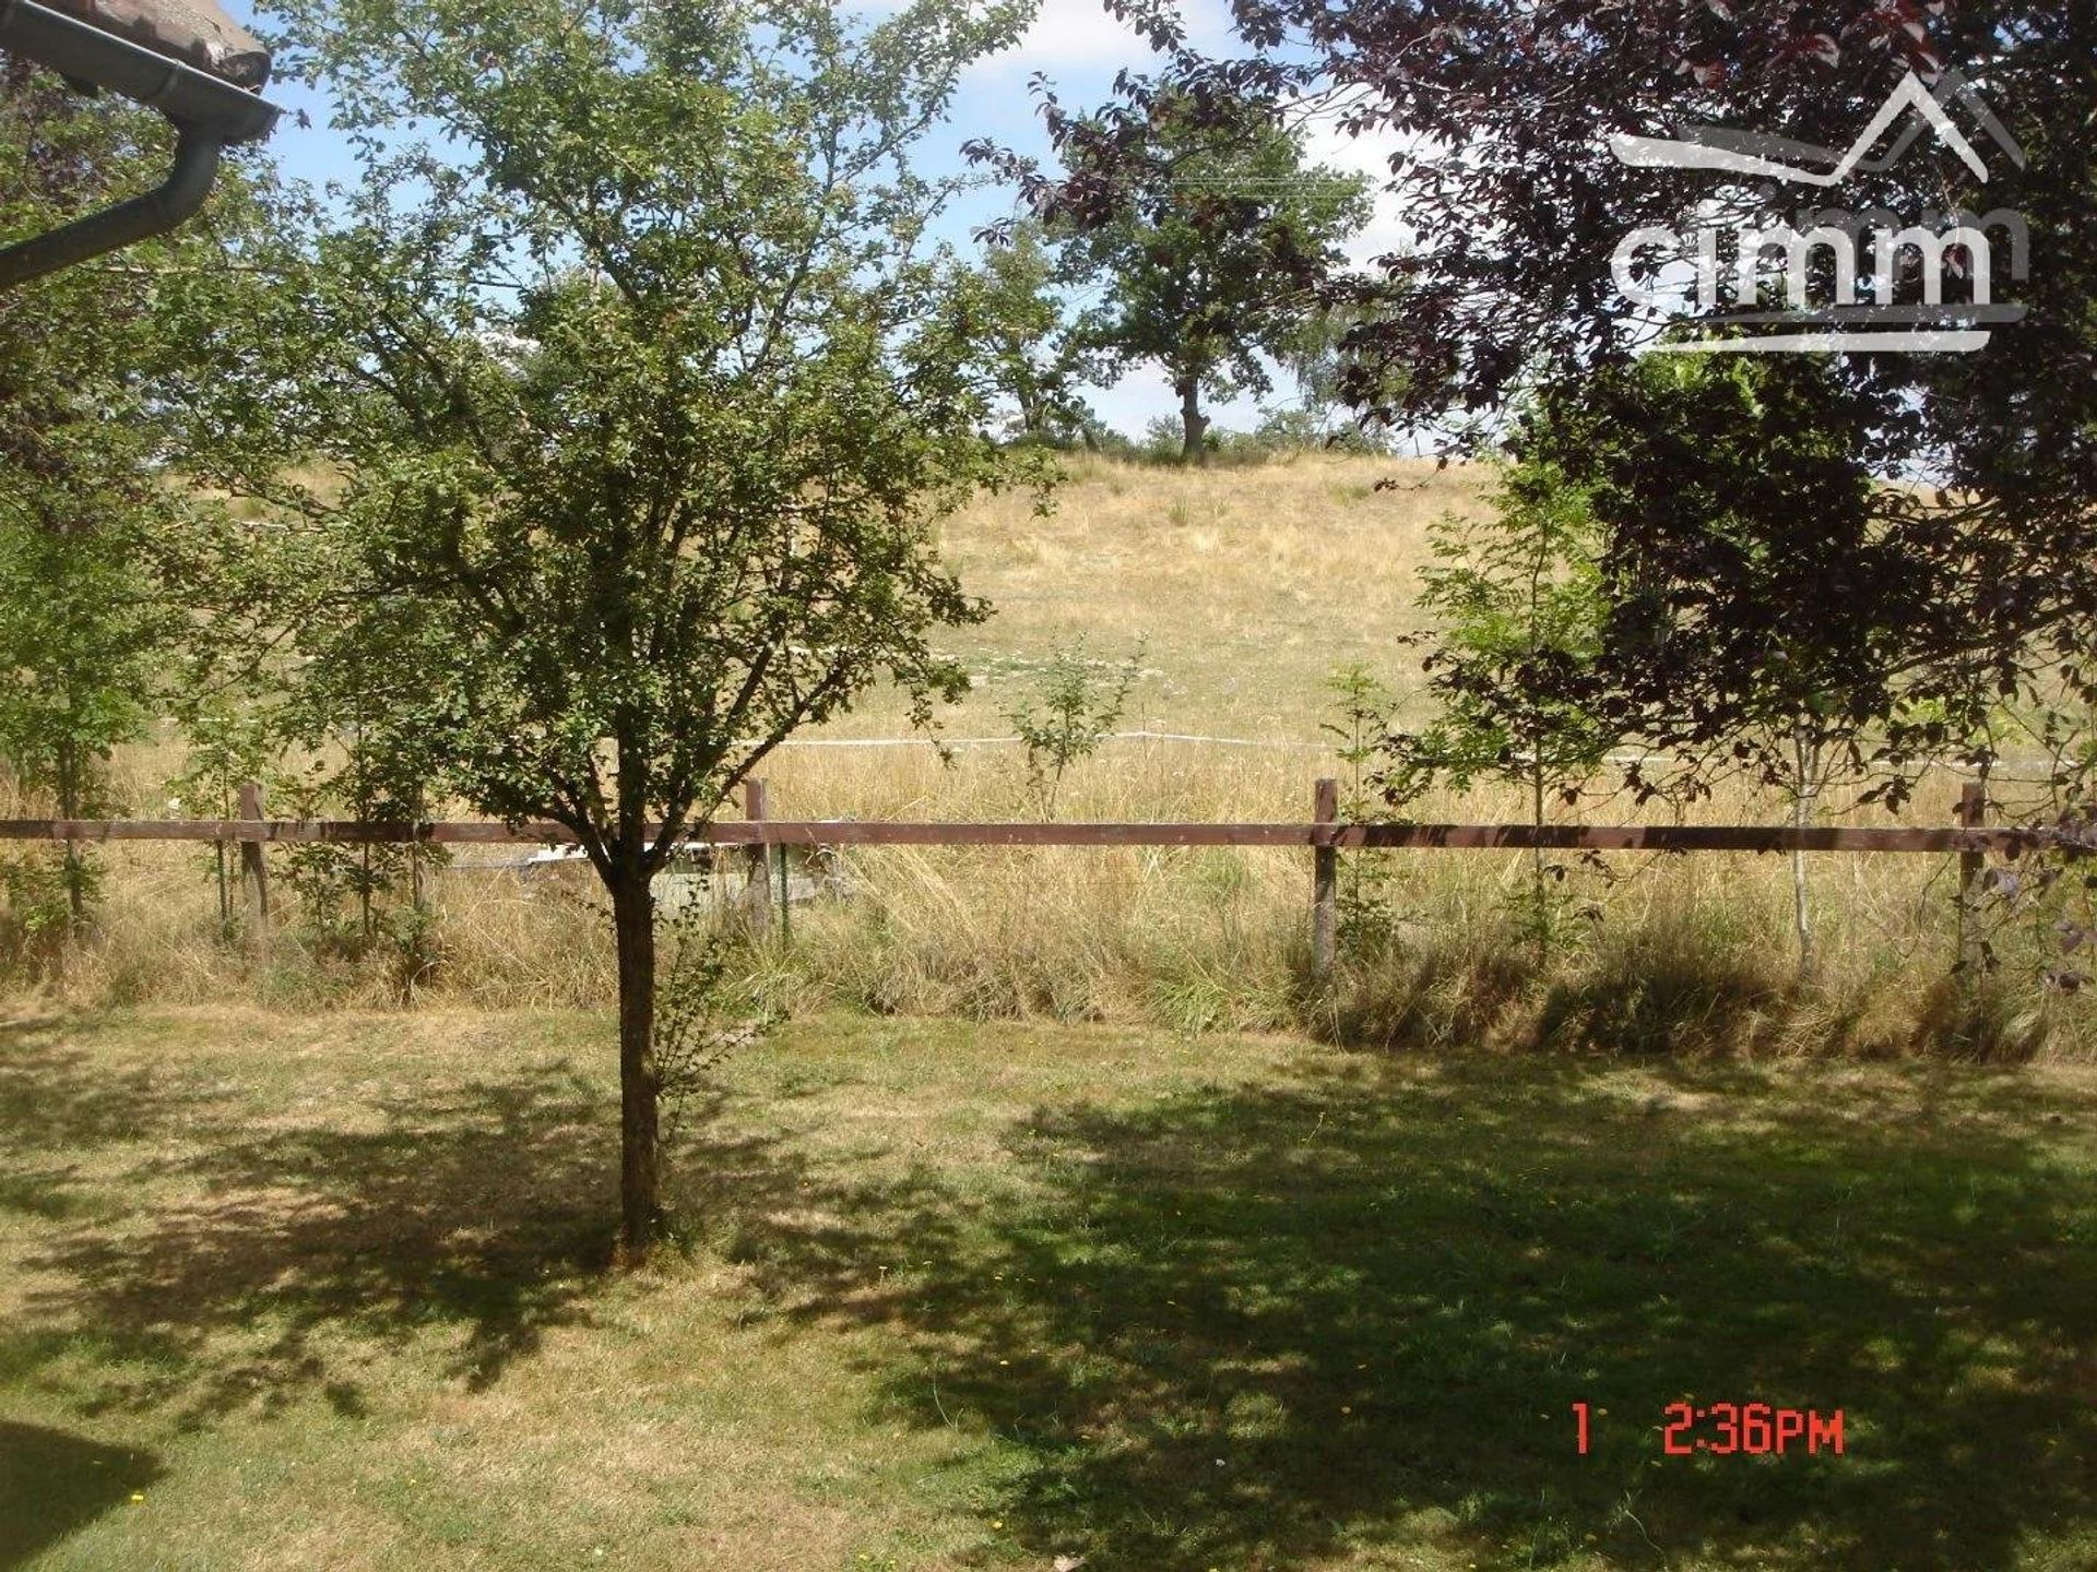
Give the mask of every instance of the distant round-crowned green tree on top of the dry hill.
M 1271 109 L 1164 94 L 1111 205 L 1053 233 L 1069 277 L 1105 293 L 1082 340 L 1109 365 L 1166 369 L 1181 455 L 1199 463 L 1202 400 L 1273 386 L 1262 356 L 1300 350 L 1344 241 L 1367 220 L 1365 182 L 1304 163 Z

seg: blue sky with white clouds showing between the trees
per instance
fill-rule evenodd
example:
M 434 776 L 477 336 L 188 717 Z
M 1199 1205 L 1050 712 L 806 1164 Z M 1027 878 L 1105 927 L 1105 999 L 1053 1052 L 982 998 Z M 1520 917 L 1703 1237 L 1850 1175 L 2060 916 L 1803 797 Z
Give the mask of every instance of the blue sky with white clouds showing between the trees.
M 885 0 L 862 0 L 862 13 L 893 8 Z M 254 0 L 229 0 L 226 10 L 241 23 L 268 25 L 266 4 Z M 1225 0 L 1185 0 L 1189 38 L 1202 48 L 1227 52 L 1231 48 L 1229 10 Z M 1057 94 L 1069 105 L 1103 103 L 1114 90 L 1114 75 L 1122 67 L 1143 69 L 1158 57 L 1126 25 L 1105 13 L 1101 0 L 1040 0 L 1034 25 L 1011 50 L 977 61 L 963 78 L 960 92 L 946 126 L 935 128 L 923 151 L 921 168 L 927 174 L 958 174 L 967 170 L 960 157 L 963 143 L 986 136 L 1021 153 L 1046 155 L 1048 145 L 1040 130 L 1036 103 L 1028 90 L 1034 73 L 1046 75 Z M 329 132 L 327 103 L 312 92 L 279 84 L 271 99 L 285 109 L 304 111 L 310 126 L 298 126 L 294 115 L 285 115 L 271 143 L 273 155 L 283 170 L 300 180 L 325 184 L 327 180 L 354 178 L 354 161 L 348 147 Z M 1382 182 L 1388 174 L 1386 153 L 1374 143 L 1350 143 L 1346 138 L 1313 132 L 1311 153 L 1317 161 L 1363 172 Z M 963 252 L 973 252 L 973 233 L 1013 210 L 1009 189 L 986 189 L 969 193 L 946 216 L 946 235 Z M 1378 205 L 1378 216 L 1350 247 L 1355 262 L 1367 262 L 1397 247 L 1403 226 L 1390 203 Z M 1277 388 L 1273 400 L 1283 400 L 1292 390 Z M 1130 436 L 1141 436 L 1147 421 L 1174 415 L 1179 400 L 1158 367 L 1139 367 L 1111 388 L 1088 390 L 1088 400 L 1099 417 Z M 1258 419 L 1254 400 L 1239 398 L 1218 405 L 1212 415 L 1225 425 L 1252 425 Z

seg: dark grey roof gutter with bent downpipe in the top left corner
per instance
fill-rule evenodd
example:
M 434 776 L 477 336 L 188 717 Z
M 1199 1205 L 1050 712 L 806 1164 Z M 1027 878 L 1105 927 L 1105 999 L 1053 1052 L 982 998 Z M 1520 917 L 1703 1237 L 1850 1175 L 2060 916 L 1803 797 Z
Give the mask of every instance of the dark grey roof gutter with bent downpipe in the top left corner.
M 166 235 L 212 191 L 218 157 L 233 143 L 271 134 L 281 113 L 264 99 L 193 65 L 36 4 L 0 0 L 0 48 L 52 67 L 73 82 L 122 92 L 176 126 L 168 180 L 65 228 L 0 249 L 0 289 Z

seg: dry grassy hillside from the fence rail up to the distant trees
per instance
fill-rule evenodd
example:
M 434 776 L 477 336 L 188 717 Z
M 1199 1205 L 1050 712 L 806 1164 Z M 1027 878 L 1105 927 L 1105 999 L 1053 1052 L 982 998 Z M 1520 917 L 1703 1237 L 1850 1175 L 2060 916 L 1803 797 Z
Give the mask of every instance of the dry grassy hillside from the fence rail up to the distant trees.
M 1040 667 L 1082 646 L 1103 662 L 1143 654 L 1122 732 L 1223 742 L 1109 742 L 1074 771 L 1061 817 L 1294 817 L 1336 767 L 1319 732 L 1327 679 L 1361 664 L 1399 692 L 1418 685 L 1420 652 L 1399 635 L 1420 627 L 1428 526 L 1480 509 L 1480 490 L 1478 472 L 1418 459 L 1076 457 L 1046 514 L 1030 495 L 979 499 L 942 530 L 963 587 L 992 608 L 939 639 L 973 683 L 935 715 L 954 759 L 916 740 L 900 694 L 872 694 L 768 765 L 774 813 L 1038 811 L 1017 748 L 998 740 Z

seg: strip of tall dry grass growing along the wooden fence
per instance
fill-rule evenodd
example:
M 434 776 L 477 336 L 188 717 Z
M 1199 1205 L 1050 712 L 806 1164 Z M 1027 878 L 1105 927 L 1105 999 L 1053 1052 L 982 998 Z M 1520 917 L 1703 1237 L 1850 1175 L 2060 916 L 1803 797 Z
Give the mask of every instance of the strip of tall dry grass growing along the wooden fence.
M 1063 817 L 1302 820 L 1315 750 L 1124 742 L 1080 765 Z M 1917 817 L 1948 817 L 1933 786 Z M 795 748 L 772 771 L 791 817 L 1011 817 L 1019 759 L 977 748 Z M 1518 817 L 1474 792 L 1424 803 L 1445 820 Z M 1736 792 L 1699 815 L 1776 822 Z M 612 958 L 587 880 L 457 861 L 430 880 L 436 966 L 409 994 L 380 945 L 331 956 L 283 903 L 266 943 L 218 929 L 210 853 L 111 847 L 94 935 L 40 987 L 80 1004 L 258 1000 L 285 1008 L 602 1006 Z M 1520 935 L 1525 853 L 1353 853 L 1350 920 L 1329 985 L 1309 977 L 1309 855 L 1239 849 L 853 849 L 845 895 L 797 903 L 786 935 L 744 954 L 776 1006 L 967 1019 L 1153 1023 L 1181 1031 L 1309 1029 L 1390 1048 L 1726 1054 L 2080 1054 L 2087 1010 L 2024 981 L 1952 981 L 1948 857 L 1812 859 L 1818 973 L 1797 979 L 1780 857 L 1619 855 L 1569 866 L 1573 933 L 1537 956 Z M 1585 914 L 1581 914 L 1585 912 Z M 734 926 L 734 918 L 728 920 Z M 17 954 L 17 977 L 25 958 Z

